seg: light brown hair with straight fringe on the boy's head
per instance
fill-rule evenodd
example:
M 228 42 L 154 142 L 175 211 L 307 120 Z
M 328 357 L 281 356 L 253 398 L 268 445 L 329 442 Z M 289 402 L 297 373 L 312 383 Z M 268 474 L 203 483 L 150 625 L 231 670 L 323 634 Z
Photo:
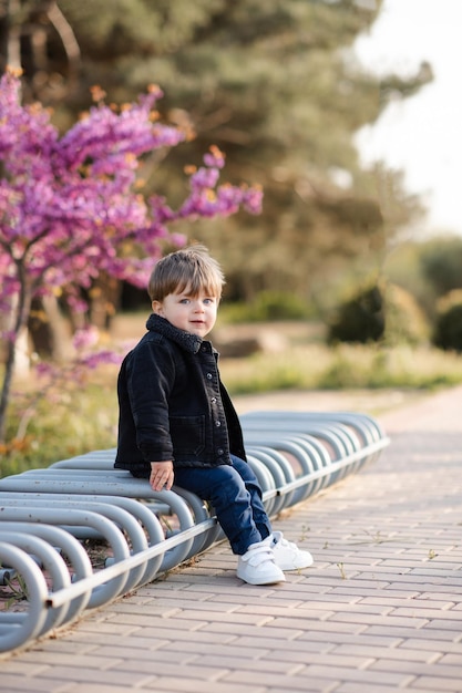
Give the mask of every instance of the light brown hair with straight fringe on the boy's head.
M 151 275 L 147 292 L 152 301 L 163 301 L 170 293 L 188 290 L 192 297 L 205 291 L 220 298 L 225 276 L 205 246 L 195 244 L 158 260 Z

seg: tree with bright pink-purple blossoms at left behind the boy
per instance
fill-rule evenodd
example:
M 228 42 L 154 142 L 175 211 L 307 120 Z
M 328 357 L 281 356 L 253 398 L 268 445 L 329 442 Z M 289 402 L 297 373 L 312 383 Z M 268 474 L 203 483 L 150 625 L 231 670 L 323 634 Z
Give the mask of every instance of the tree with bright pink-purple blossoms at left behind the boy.
M 223 154 L 212 147 L 204 165 L 192 168 L 189 190 L 173 209 L 136 190 L 142 157 L 178 145 L 185 134 L 160 122 L 162 96 L 150 87 L 121 108 L 97 103 L 60 136 L 40 104 L 21 104 L 20 77 L 0 80 L 0 325 L 4 345 L 0 395 L 0 441 L 14 372 L 17 344 L 31 302 L 65 288 L 74 309 L 81 289 L 101 272 L 146 286 L 161 241 L 182 245 L 171 230 L 178 220 L 227 216 L 240 207 L 260 211 L 257 187 L 219 184 Z

